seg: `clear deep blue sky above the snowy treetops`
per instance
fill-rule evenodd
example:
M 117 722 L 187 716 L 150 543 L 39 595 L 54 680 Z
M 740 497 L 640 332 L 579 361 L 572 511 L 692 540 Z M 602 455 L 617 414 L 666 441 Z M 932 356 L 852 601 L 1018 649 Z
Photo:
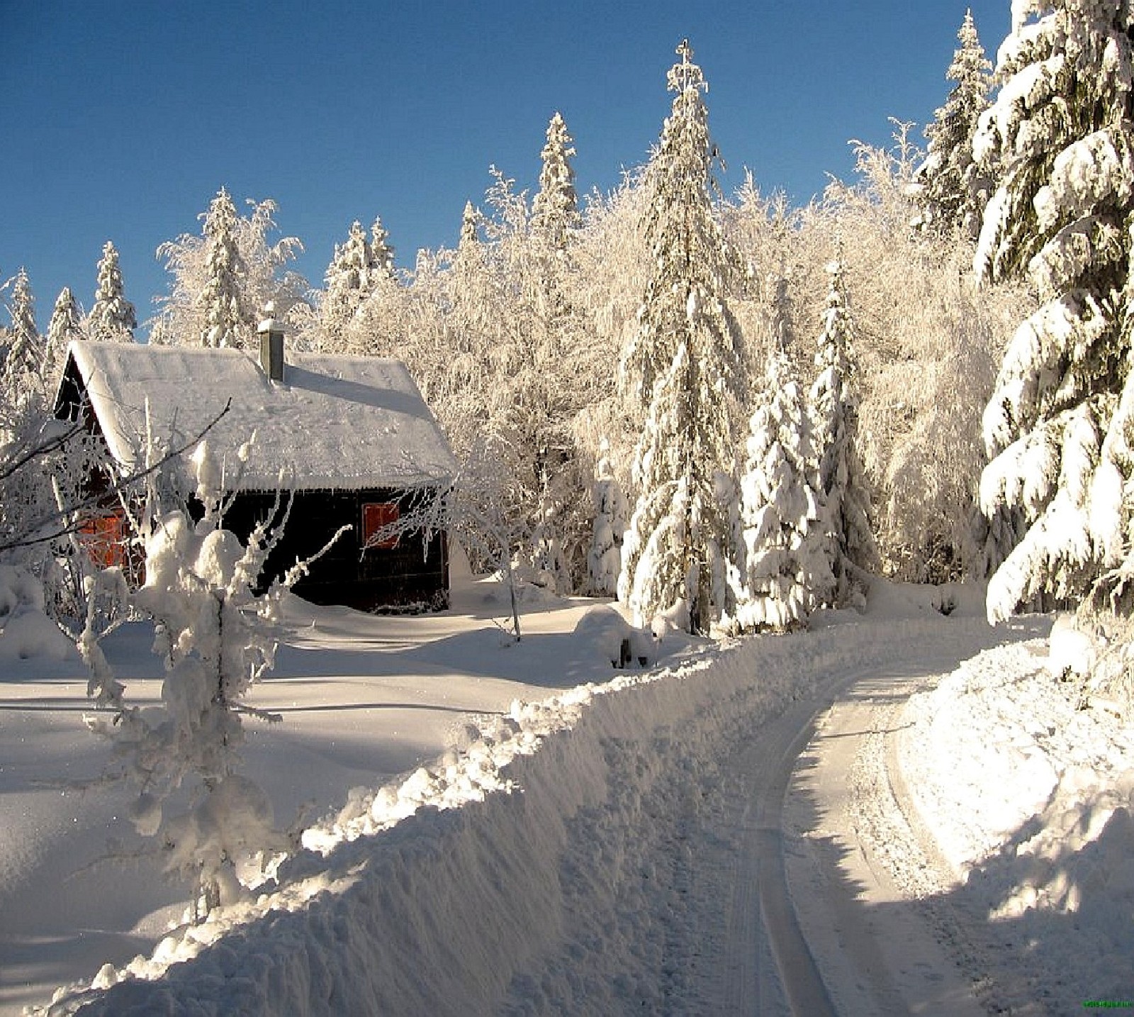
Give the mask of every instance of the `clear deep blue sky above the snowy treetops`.
M 490 166 L 534 191 L 556 110 L 579 192 L 613 187 L 658 140 L 686 36 L 726 193 L 747 168 L 805 203 L 828 174 L 852 176 L 848 140 L 888 140 L 889 117 L 921 140 L 965 7 L 0 0 L 0 281 L 26 267 L 45 329 L 64 286 L 90 308 L 112 239 L 144 320 L 168 284 L 158 245 L 200 233 L 221 186 L 278 203 L 313 285 L 354 219 L 381 216 L 412 266 L 456 244 Z M 995 58 L 1008 0 L 971 7 Z

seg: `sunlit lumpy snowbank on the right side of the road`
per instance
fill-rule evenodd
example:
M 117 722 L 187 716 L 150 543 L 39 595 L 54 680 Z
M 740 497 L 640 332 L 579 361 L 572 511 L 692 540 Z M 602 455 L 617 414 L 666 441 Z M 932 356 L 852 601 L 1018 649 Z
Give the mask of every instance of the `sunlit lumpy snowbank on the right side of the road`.
M 1134 728 L 1077 699 L 1035 639 L 974 657 L 906 708 L 902 768 L 959 905 L 989 916 L 990 942 L 1027 944 L 1002 1012 L 1129 998 L 1116 958 L 1134 956 Z

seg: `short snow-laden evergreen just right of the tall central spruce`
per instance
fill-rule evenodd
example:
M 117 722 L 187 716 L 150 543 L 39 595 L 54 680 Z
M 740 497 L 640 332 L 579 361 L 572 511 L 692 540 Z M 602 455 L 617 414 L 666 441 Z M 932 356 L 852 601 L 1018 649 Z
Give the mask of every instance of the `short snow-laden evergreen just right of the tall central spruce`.
M 759 632 L 805 625 L 815 607 L 830 603 L 835 577 L 815 490 L 807 402 L 787 348 L 776 338 L 750 422 L 741 524 L 736 627 Z

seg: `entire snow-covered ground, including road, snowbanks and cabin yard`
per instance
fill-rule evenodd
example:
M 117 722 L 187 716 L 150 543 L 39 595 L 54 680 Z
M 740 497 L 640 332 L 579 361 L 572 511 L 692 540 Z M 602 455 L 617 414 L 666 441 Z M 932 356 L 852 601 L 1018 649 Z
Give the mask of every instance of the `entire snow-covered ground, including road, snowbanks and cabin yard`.
M 245 760 L 282 823 L 312 804 L 304 849 L 200 926 L 129 791 L 82 790 L 81 667 L 0 637 L 0 1014 L 1128 1001 L 1132 732 L 1048 675 L 1044 620 L 940 596 L 628 672 L 593 602 L 530 603 L 518 645 L 484 582 L 437 616 L 293 602 Z M 107 652 L 156 695 L 144 627 Z

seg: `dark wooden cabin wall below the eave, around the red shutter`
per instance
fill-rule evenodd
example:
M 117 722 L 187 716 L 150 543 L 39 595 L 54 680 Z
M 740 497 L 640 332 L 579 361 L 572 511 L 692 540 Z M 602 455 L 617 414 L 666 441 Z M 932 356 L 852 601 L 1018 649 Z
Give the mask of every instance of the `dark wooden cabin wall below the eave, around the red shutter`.
M 401 536 L 396 547 L 362 549 L 362 515 L 366 503 L 398 503 L 408 496 L 396 490 L 299 490 L 284 535 L 265 568 L 265 586 L 296 561 L 316 554 L 341 526 L 344 533 L 293 588 L 313 604 L 344 604 L 361 611 L 437 611 L 449 604 L 448 546 L 443 532 L 434 532 L 425 547 L 421 532 Z M 225 515 L 223 526 L 242 539 L 270 518 L 274 493 L 238 494 Z M 282 514 L 282 513 L 281 513 Z

